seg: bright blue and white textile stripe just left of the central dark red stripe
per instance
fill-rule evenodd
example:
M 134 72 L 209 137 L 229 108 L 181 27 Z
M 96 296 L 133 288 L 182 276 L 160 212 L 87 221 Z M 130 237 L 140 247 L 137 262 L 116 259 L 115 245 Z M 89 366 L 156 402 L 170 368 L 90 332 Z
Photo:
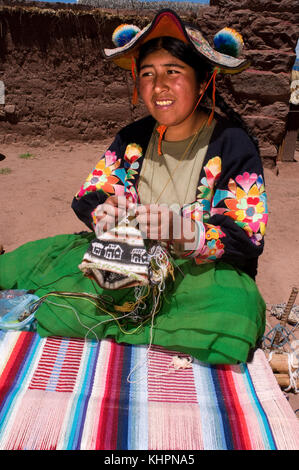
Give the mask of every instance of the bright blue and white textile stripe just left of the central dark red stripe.
M 100 343 L 93 340 L 86 340 L 85 348 L 85 352 L 83 353 L 84 363 L 82 364 L 83 367 L 80 373 L 78 393 L 76 395 L 77 399 L 73 401 L 69 417 L 69 423 L 71 423 L 69 437 L 65 446 L 63 446 L 66 450 L 80 449 L 86 410 L 94 383 L 94 374 L 100 351 Z

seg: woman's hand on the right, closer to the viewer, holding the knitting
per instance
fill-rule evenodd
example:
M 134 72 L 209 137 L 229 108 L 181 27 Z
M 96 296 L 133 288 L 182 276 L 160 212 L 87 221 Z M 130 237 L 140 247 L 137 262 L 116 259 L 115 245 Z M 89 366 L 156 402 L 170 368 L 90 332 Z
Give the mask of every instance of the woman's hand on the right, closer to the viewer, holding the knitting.
M 197 243 L 195 222 L 176 214 L 167 205 L 139 205 L 136 218 L 144 238 L 170 242 L 179 252 L 195 249 Z

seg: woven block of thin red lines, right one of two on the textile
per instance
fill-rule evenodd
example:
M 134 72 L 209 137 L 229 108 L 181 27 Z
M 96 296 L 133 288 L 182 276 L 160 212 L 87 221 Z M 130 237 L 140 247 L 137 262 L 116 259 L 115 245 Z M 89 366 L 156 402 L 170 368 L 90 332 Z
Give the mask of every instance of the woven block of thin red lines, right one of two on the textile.
M 153 346 L 149 352 L 148 399 L 168 403 L 197 403 L 193 370 L 175 370 L 174 356 L 189 357 L 176 351 Z

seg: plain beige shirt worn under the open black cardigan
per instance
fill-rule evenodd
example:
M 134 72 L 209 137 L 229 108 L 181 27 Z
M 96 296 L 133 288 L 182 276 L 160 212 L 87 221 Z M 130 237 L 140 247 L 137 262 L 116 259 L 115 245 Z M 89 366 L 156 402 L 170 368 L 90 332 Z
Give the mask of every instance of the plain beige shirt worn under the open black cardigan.
M 216 121 L 195 136 L 182 141 L 162 142 L 154 129 L 141 168 L 138 193 L 141 204 L 182 207 L 196 199 L 198 178 Z

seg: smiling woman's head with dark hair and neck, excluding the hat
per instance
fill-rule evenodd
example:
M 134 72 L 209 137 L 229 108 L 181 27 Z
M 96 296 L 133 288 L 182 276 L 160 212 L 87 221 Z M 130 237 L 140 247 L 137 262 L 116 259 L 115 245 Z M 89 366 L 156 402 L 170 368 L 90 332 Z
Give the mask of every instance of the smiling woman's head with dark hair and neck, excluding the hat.
M 196 64 L 196 68 L 194 68 Z M 166 140 L 193 135 L 206 119 L 198 108 L 207 76 L 207 64 L 185 43 L 163 36 L 145 42 L 137 59 L 140 95 L 150 114 L 167 127 Z

